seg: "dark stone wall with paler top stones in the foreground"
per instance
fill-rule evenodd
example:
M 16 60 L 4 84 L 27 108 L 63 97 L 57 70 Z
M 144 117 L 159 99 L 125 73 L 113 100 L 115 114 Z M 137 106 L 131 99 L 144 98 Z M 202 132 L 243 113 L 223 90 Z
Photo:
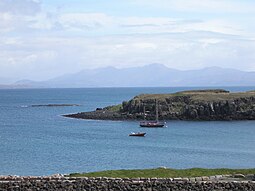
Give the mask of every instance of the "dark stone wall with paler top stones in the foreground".
M 5 190 L 255 190 L 254 174 L 216 175 L 194 178 L 107 178 L 53 176 L 0 176 Z

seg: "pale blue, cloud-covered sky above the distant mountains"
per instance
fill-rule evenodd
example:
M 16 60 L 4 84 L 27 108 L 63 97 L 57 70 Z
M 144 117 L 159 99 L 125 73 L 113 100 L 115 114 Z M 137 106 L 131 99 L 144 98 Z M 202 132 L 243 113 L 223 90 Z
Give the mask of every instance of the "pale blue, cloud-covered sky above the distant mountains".
M 254 0 L 0 0 L 0 83 L 152 63 L 255 71 Z

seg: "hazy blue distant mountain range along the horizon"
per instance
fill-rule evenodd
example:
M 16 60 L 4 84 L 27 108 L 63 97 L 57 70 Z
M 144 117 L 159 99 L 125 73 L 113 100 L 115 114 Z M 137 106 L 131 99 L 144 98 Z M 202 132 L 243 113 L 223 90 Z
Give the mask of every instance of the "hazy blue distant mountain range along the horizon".
M 162 64 L 117 69 L 106 67 L 82 70 L 47 81 L 22 80 L 0 88 L 81 88 L 81 87 L 174 87 L 254 86 L 255 72 L 209 67 L 176 70 Z

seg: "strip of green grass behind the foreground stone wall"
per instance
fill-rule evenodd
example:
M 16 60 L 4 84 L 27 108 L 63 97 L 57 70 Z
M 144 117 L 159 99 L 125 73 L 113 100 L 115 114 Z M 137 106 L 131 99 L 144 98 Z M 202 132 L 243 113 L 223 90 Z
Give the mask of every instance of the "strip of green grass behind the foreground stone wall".
M 201 177 L 225 174 L 255 174 L 255 169 L 145 169 L 145 170 L 108 170 L 91 173 L 72 173 L 72 177 L 112 177 L 112 178 L 176 178 L 176 177 Z

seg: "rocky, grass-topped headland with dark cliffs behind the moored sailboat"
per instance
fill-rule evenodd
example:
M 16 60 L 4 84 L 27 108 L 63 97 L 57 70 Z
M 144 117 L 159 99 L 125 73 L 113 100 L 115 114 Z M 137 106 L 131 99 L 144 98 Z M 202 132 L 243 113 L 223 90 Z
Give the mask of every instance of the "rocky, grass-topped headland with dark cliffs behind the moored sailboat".
M 191 90 L 141 94 L 122 104 L 65 117 L 97 120 L 255 120 L 255 91 Z

